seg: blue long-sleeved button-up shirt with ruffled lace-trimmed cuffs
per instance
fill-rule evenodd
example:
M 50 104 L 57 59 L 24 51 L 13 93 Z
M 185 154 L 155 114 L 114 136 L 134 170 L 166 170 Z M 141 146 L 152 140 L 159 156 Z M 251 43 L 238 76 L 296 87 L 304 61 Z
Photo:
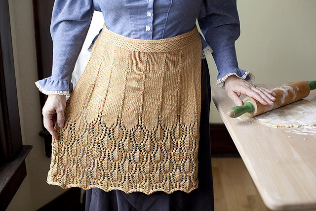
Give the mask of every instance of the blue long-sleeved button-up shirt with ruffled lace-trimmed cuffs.
M 109 30 L 135 39 L 174 37 L 191 31 L 197 20 L 205 37 L 202 48 L 210 45 L 213 50 L 217 84 L 232 74 L 250 79 L 250 72 L 239 69 L 237 63 L 236 0 L 55 0 L 50 25 L 52 75 L 36 82 L 44 94 L 73 91 L 72 72 L 94 10 L 102 12 Z

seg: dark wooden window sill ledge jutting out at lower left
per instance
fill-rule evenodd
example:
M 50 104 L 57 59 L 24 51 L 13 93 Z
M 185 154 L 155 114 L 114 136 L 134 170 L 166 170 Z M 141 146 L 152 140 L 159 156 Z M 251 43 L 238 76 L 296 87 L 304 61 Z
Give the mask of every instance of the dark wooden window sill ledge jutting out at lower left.
M 16 191 L 26 176 L 25 157 L 32 146 L 24 145 L 18 157 L 0 167 L 0 210 L 4 211 L 10 204 Z

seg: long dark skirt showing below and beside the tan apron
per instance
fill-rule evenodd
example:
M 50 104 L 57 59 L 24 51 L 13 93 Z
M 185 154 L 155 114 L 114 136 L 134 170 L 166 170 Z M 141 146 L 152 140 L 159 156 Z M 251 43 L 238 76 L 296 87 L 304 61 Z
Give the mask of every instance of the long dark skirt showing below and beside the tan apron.
M 147 195 L 126 194 L 120 190 L 105 192 L 99 188 L 86 191 L 86 211 L 214 211 L 213 179 L 209 135 L 211 101 L 210 77 L 206 59 L 201 66 L 201 119 L 198 148 L 198 188 L 191 193 L 162 191 Z

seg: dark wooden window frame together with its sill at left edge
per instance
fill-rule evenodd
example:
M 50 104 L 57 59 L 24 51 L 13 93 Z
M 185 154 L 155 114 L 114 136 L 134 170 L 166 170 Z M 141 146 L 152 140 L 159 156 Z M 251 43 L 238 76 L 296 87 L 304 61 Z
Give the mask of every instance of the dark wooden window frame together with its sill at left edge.
M 0 210 L 5 210 L 26 176 L 8 0 L 0 0 Z

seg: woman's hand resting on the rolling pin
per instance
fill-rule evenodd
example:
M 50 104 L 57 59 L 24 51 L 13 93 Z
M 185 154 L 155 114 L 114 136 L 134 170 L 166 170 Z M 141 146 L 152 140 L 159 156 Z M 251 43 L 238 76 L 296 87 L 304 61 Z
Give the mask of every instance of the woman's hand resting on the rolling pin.
M 239 98 L 241 94 L 258 100 L 262 105 L 273 105 L 273 101 L 276 100 L 276 98 L 272 96 L 273 91 L 267 88 L 257 87 L 235 75 L 229 76 L 225 80 L 225 90 L 236 106 L 243 104 Z

